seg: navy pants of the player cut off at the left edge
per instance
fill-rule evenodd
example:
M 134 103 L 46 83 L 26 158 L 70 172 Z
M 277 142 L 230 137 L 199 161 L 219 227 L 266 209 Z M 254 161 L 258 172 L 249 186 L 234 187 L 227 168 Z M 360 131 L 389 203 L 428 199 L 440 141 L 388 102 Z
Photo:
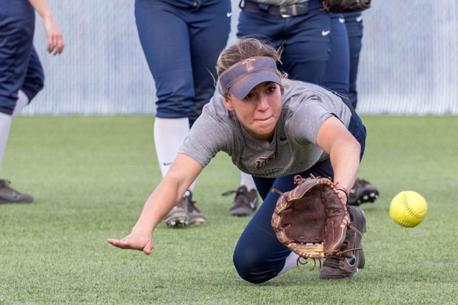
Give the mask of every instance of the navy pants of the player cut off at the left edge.
M 43 69 L 32 45 L 35 11 L 27 0 L 0 1 L 0 112 L 11 115 L 22 89 L 29 101 L 43 88 Z

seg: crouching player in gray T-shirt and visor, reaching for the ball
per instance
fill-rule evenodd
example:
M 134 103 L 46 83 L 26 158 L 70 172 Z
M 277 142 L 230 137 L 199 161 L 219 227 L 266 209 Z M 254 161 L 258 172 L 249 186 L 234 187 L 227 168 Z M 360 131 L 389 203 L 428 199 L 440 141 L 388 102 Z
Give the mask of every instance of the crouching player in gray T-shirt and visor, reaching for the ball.
M 108 239 L 109 243 L 150 254 L 154 228 L 222 150 L 241 171 L 253 176 L 264 199 L 234 251 L 240 277 L 263 283 L 295 265 L 298 256 L 278 241 L 271 227 L 279 195 L 270 191 L 292 190 L 296 174 L 331 177 L 343 189 L 351 188 L 366 131 L 347 98 L 317 85 L 285 79 L 277 70 L 279 58 L 275 48 L 256 39 L 238 39 L 221 52 L 217 66 L 220 95 L 204 107 L 132 232 L 121 240 Z M 339 192 L 347 198 L 346 192 Z M 348 210 L 354 226 L 364 232 L 362 210 L 356 206 Z M 361 239 L 355 241 L 354 248 L 359 248 Z M 362 251 L 353 252 L 350 259 L 326 259 L 320 278 L 353 276 L 363 262 Z

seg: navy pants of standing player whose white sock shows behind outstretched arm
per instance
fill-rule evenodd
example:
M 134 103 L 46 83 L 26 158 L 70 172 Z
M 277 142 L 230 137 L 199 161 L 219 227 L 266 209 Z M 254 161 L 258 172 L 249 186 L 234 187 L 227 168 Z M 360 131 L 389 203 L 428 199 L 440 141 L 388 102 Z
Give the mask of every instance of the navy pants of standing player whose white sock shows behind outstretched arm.
M 203 1 L 195 9 L 135 1 L 138 35 L 156 83 L 157 117 L 188 117 L 192 124 L 210 101 L 230 11 L 229 1 Z

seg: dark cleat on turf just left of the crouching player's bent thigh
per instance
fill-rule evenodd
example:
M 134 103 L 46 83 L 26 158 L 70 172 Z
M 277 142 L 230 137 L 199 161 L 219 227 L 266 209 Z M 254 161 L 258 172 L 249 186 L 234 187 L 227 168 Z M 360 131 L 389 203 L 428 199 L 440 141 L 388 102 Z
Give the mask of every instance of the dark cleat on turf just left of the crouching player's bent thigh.
M 222 196 L 236 194 L 234 202 L 229 209 L 229 215 L 232 216 L 250 216 L 254 213 L 257 207 L 257 191 L 252 189 L 248 192 L 245 186 L 241 186 L 235 191 L 227 191 L 222 193 Z

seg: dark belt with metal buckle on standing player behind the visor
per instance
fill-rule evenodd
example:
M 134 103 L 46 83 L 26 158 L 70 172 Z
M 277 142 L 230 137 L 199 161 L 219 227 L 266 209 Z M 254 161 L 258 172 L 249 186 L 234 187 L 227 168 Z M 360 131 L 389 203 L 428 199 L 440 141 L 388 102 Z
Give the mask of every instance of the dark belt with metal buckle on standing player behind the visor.
M 242 2 L 240 2 L 242 3 Z M 307 14 L 309 10 L 321 8 L 321 2 L 318 0 L 311 0 L 300 4 L 290 5 L 268 5 L 263 3 L 257 3 L 252 1 L 244 1 L 242 9 L 251 13 L 267 13 L 272 16 L 280 16 L 283 18 L 289 18 L 294 16 L 302 16 Z

